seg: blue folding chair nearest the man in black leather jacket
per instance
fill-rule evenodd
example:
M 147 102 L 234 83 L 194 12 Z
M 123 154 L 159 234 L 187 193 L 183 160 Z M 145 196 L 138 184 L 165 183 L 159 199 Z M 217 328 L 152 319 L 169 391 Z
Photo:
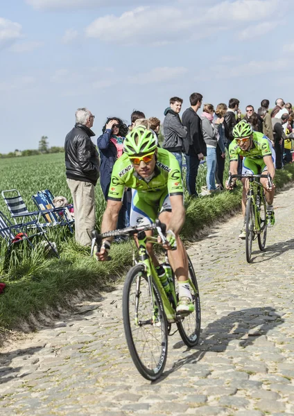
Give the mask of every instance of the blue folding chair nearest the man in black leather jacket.
M 74 219 L 71 217 L 69 210 L 67 207 L 54 207 L 53 195 L 48 189 L 35 193 L 32 199 L 48 226 L 50 224 L 52 226 L 67 226 L 71 233 L 74 232 L 74 229 L 71 227 L 74 224 Z

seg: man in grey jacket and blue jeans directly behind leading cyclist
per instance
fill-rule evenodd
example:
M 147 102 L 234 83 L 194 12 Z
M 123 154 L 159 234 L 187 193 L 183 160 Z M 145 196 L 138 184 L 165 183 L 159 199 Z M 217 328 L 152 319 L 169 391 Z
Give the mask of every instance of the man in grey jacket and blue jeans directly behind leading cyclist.
M 182 98 L 172 97 L 169 101 L 170 107 L 164 111 L 164 143 L 162 147 L 173 153 L 180 164 L 182 171 L 182 140 L 187 136 L 187 128 L 184 128 L 180 121 L 180 111 L 182 108 Z

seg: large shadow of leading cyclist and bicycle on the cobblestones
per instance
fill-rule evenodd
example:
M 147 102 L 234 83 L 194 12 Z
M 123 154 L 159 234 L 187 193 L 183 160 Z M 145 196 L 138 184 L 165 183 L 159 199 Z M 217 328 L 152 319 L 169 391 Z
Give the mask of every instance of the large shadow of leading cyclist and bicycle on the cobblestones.
M 192 354 L 181 358 L 173 364 L 171 370 L 164 372 L 162 377 L 155 383 L 166 379 L 169 374 L 177 371 L 180 367 L 188 363 L 198 363 L 202 360 L 207 352 L 225 352 L 227 346 L 232 342 L 239 340 L 239 345 L 243 348 L 254 344 L 262 335 L 265 335 L 270 329 L 281 325 L 284 319 L 276 313 L 271 306 L 242 309 L 234 311 L 228 315 L 222 316 L 207 325 L 200 334 L 200 344 L 196 347 L 187 347 L 186 351 Z M 182 341 L 175 343 L 173 348 L 181 348 Z M 193 350 L 198 350 L 193 352 Z

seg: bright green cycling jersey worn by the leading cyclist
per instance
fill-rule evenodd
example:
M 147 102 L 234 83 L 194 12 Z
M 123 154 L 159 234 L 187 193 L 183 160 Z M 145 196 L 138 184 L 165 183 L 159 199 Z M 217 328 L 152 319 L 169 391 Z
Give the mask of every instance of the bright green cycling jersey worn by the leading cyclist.
M 114 164 L 108 199 L 121 201 L 126 188 L 133 190 L 130 225 L 151 223 L 159 212 L 171 210 L 170 196 L 183 194 L 180 165 L 168 150 L 158 148 L 154 175 L 146 180 L 123 154 Z

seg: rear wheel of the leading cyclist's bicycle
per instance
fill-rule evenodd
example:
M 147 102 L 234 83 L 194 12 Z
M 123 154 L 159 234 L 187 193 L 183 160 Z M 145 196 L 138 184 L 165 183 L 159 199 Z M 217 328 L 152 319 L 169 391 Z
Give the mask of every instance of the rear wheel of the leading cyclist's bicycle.
M 191 288 L 191 295 L 193 298 L 193 303 L 195 306 L 195 311 L 190 313 L 182 320 L 177 322 L 177 327 L 180 333 L 180 336 L 187 347 L 194 347 L 198 344 L 200 338 L 200 327 L 201 327 L 201 309 L 200 309 L 200 295 L 198 290 L 197 279 L 195 271 L 191 262 L 191 259 L 188 256 L 188 265 L 189 265 L 189 277 L 193 282 L 194 287 L 196 288 L 196 293 Z

